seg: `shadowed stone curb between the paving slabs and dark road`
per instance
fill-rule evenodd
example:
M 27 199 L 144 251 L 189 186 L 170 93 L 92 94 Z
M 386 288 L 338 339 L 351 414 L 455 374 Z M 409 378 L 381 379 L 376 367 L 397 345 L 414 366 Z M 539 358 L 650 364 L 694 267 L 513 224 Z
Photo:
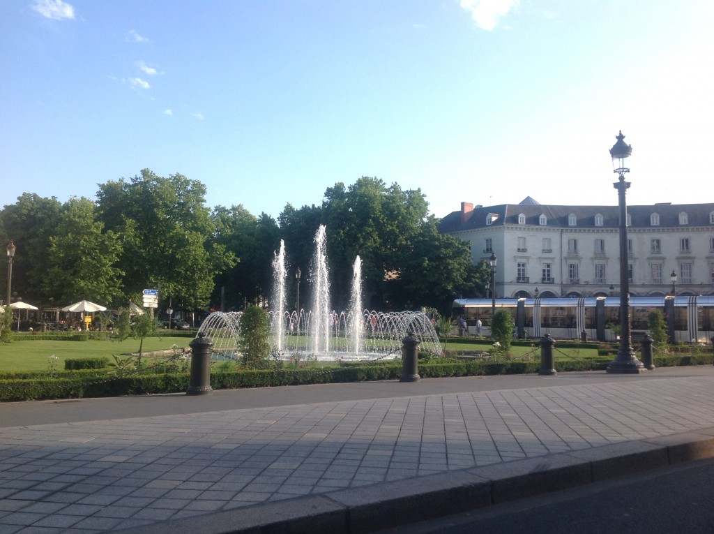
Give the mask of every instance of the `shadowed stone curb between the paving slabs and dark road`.
M 513 460 L 116 530 L 126 534 L 366 534 L 714 457 L 714 427 Z

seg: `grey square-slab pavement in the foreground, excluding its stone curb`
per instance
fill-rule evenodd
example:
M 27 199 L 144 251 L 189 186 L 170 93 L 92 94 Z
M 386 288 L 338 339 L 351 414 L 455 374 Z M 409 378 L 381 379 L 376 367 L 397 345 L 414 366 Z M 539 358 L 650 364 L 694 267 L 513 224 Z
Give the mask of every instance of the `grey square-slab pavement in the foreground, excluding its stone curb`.
M 158 526 L 714 427 L 712 391 L 707 375 L 0 427 L 0 534 Z

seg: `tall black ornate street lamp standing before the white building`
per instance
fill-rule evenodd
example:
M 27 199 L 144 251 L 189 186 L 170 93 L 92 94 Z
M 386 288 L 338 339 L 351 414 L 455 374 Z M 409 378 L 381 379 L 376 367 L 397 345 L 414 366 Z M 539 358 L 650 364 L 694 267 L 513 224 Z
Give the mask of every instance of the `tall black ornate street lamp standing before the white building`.
M 630 182 L 625 182 L 625 173 L 630 169 L 625 167 L 625 159 L 632 155 L 632 145 L 626 144 L 622 130 L 615 136 L 618 140 L 610 149 L 613 159 L 613 172 L 618 174 L 618 182 L 613 186 L 618 190 L 620 211 L 620 350 L 618 355 L 608 364 L 607 372 L 620 374 L 639 374 L 645 371 L 645 366 L 635 356 L 632 347 L 632 332 L 630 330 L 630 280 L 628 279 L 628 246 L 627 246 L 627 193 Z

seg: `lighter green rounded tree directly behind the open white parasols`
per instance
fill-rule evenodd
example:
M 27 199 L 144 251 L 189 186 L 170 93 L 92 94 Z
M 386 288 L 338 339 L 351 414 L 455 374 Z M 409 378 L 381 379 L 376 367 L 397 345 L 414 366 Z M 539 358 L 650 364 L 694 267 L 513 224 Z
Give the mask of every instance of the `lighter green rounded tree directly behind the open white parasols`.
M 62 209 L 56 234 L 49 238 L 43 288 L 61 301 L 92 300 L 111 304 L 121 295 L 119 236 L 104 232 L 94 202 L 71 198 Z

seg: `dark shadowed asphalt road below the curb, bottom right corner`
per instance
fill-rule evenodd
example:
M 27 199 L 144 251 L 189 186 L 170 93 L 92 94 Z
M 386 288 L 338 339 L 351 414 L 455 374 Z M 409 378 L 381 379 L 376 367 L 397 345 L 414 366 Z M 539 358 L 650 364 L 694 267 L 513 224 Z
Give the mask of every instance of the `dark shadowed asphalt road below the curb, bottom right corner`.
M 375 534 L 710 534 L 714 459 Z

